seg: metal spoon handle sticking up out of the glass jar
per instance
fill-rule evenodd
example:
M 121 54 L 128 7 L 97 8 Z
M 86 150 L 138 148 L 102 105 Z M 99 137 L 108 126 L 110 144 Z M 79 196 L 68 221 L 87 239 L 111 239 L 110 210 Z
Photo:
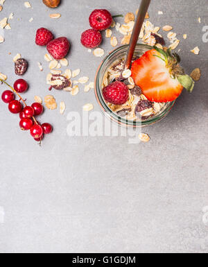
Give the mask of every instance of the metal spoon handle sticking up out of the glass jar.
M 127 53 L 127 57 L 125 60 L 125 69 L 129 69 L 130 65 L 132 63 L 132 58 L 133 58 L 133 55 L 135 52 L 135 47 L 137 45 L 139 34 L 141 32 L 141 28 L 142 28 L 142 25 L 144 23 L 144 19 L 146 17 L 146 12 L 148 11 L 148 7 L 150 6 L 150 1 L 151 0 L 141 0 L 141 5 L 139 8 L 137 19 L 135 21 L 134 29 L 132 31 L 132 37 L 130 40 L 130 44 L 128 47 L 128 53 Z

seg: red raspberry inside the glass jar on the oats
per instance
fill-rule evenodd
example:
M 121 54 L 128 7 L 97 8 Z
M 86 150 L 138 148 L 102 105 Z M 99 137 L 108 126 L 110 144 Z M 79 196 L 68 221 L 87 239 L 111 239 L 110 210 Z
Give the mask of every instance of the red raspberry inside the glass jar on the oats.
M 128 101 L 128 87 L 125 83 L 116 81 L 103 88 L 103 96 L 105 101 L 109 103 L 114 105 L 123 105 L 126 101 Z

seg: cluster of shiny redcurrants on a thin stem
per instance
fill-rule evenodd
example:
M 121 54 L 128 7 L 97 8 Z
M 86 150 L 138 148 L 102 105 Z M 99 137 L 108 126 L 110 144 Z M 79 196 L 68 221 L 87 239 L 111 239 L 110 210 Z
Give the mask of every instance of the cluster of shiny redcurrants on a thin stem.
M 1 83 L 6 83 L 1 80 Z M 26 92 L 28 89 L 28 83 L 26 80 L 19 79 L 14 83 L 14 88 L 8 85 L 10 90 L 6 90 L 1 95 L 1 99 L 4 103 L 8 104 L 8 109 L 13 114 L 19 114 L 19 127 L 21 130 L 30 130 L 32 137 L 35 141 L 41 142 L 44 134 L 52 132 L 53 128 L 49 123 L 43 123 L 40 125 L 35 119 L 36 116 L 42 114 L 44 108 L 40 103 L 33 103 L 31 106 L 26 105 L 25 100 L 20 96 L 21 93 Z M 19 97 L 19 101 L 15 100 L 15 95 Z

